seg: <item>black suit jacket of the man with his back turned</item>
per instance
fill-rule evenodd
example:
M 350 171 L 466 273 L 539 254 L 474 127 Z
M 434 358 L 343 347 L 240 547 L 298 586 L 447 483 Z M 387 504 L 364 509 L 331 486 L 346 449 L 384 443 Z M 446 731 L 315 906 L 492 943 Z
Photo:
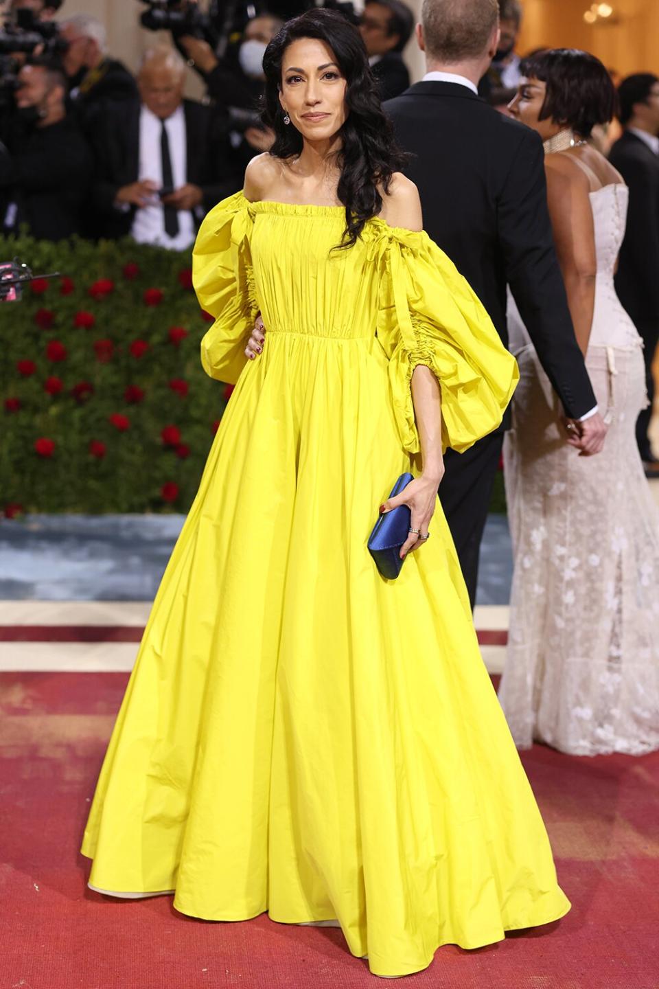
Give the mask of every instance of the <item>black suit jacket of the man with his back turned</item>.
M 553 245 L 542 144 L 466 86 L 419 82 L 384 110 L 413 158 L 424 227 L 508 344 L 506 284 L 565 412 L 596 405 Z

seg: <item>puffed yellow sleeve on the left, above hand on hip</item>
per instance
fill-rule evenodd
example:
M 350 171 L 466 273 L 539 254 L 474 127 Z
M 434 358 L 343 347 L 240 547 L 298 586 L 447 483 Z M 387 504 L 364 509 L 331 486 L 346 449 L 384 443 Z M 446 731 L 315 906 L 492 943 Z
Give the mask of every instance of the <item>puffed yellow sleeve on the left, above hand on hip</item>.
M 207 214 L 193 251 L 193 284 L 215 321 L 202 340 L 206 374 L 235 385 L 247 362 L 244 347 L 259 308 L 249 249 L 252 218 L 241 192 Z

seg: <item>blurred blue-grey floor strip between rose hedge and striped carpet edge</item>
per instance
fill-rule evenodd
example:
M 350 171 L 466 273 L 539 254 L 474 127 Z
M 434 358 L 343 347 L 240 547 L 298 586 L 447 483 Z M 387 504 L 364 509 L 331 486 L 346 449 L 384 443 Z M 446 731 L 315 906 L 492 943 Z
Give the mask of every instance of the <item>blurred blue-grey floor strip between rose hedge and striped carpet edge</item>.
M 150 600 L 183 515 L 29 515 L 0 520 L 0 599 Z M 508 604 L 508 522 L 491 515 L 481 549 L 479 604 Z

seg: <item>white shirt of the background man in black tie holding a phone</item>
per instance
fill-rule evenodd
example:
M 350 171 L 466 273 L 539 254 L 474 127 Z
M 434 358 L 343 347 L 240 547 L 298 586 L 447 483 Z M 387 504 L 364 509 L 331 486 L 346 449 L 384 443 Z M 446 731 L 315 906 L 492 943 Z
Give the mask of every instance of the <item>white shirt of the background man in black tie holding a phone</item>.
M 174 188 L 180 189 L 188 181 L 186 117 L 183 107 L 174 111 L 165 121 L 165 129 L 169 140 L 169 156 L 172 162 L 172 177 Z M 160 136 L 162 124 L 160 118 L 142 106 L 139 113 L 139 171 L 137 178 L 140 182 L 151 179 L 158 187 L 162 187 L 162 156 L 160 151 Z M 174 237 L 165 231 L 165 212 L 157 195 L 154 195 L 148 206 L 143 206 L 135 212 L 135 219 L 130 230 L 137 243 L 155 244 L 158 247 L 168 247 L 170 250 L 185 250 L 195 239 L 195 222 L 190 210 L 179 210 L 179 232 Z

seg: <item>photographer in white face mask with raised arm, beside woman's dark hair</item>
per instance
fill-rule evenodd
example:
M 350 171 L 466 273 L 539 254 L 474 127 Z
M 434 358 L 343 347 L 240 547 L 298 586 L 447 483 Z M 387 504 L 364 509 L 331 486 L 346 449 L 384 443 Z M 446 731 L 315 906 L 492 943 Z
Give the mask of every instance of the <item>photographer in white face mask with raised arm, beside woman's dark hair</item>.
M 237 64 L 229 58 L 219 60 L 205 41 L 191 36 L 179 39 L 181 48 L 205 77 L 208 95 L 229 116 L 231 144 L 241 172 L 255 154 L 270 150 L 275 139 L 274 133 L 260 124 L 257 108 L 265 82 L 263 55 L 282 26 L 283 22 L 272 14 L 249 21 L 238 48 Z

